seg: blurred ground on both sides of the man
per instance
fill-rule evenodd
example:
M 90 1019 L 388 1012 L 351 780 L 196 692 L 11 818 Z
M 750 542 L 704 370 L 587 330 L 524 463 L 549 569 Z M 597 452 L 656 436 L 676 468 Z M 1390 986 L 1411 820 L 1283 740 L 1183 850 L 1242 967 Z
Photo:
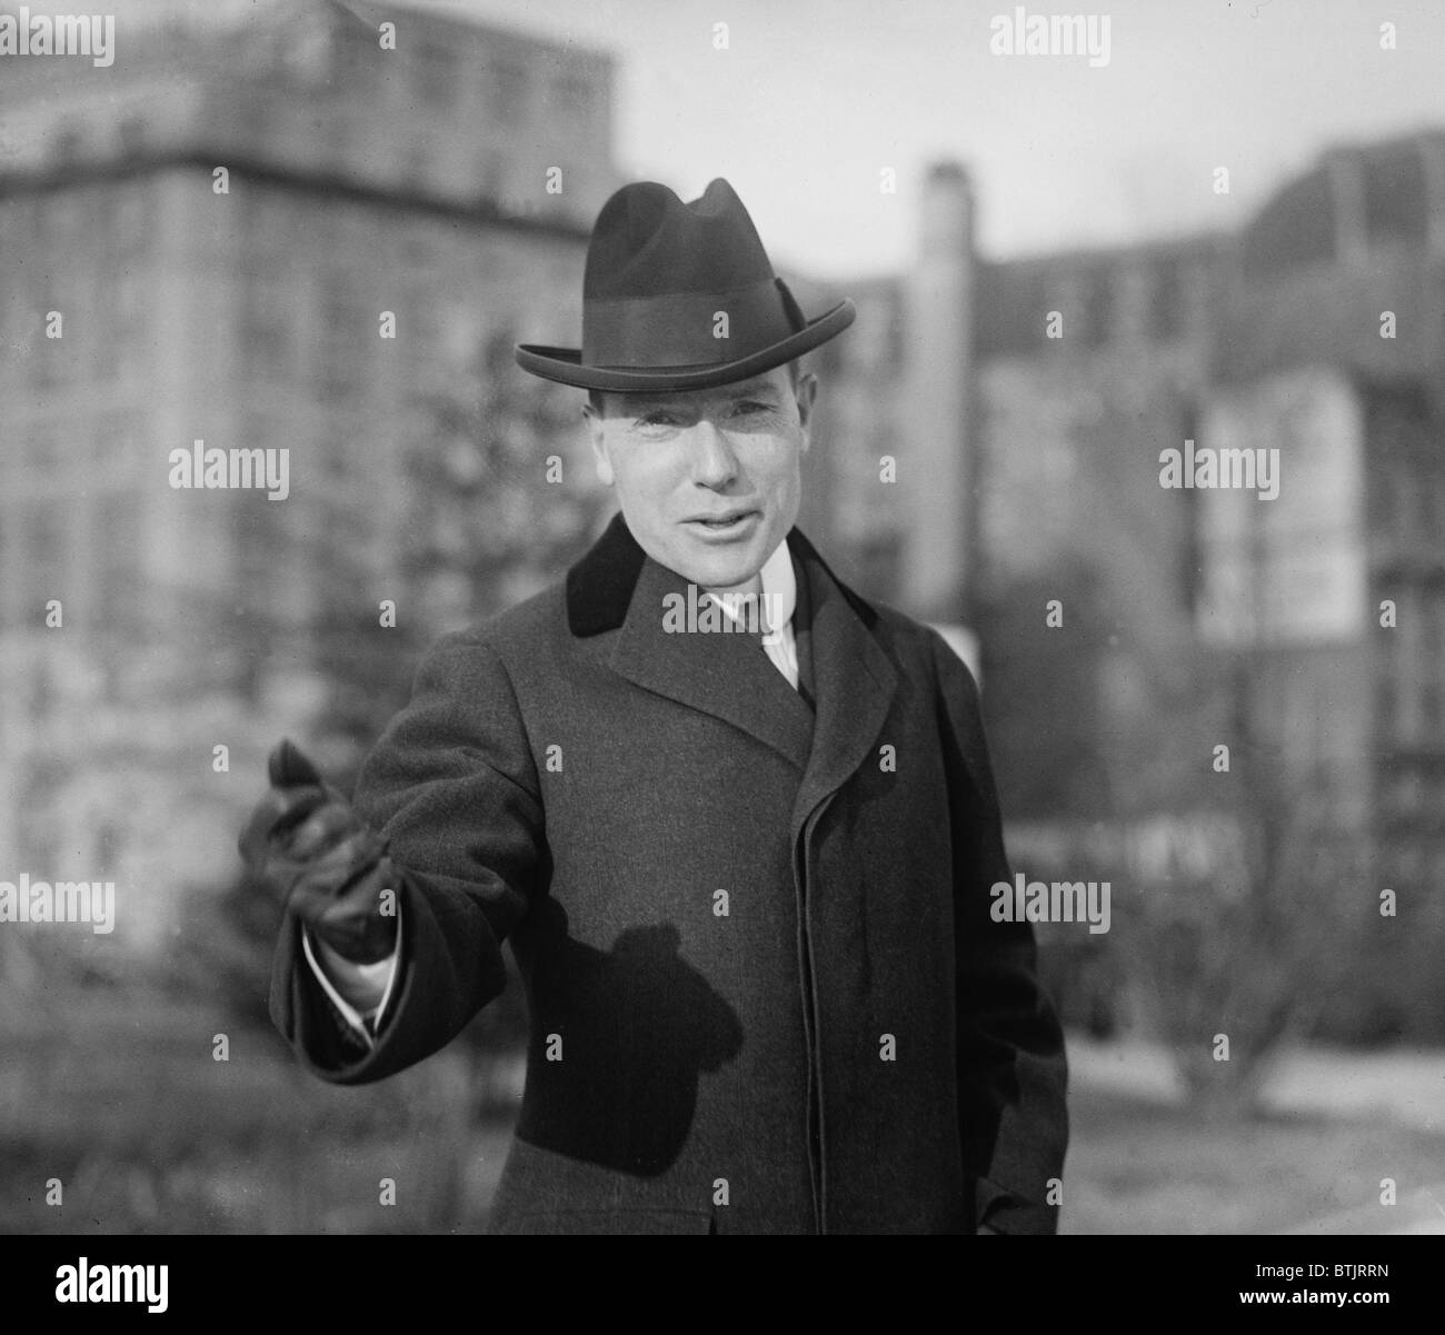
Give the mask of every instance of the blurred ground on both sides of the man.
M 1064 1232 L 1445 1232 L 1445 1053 L 1296 1050 L 1267 1115 L 1211 1120 L 1181 1101 L 1157 1049 L 1074 1037 L 1069 1050 Z M 0 1232 L 475 1231 L 514 1094 L 514 1060 L 488 1078 L 449 1052 L 340 1089 L 273 1033 L 195 1010 L 12 1013 Z

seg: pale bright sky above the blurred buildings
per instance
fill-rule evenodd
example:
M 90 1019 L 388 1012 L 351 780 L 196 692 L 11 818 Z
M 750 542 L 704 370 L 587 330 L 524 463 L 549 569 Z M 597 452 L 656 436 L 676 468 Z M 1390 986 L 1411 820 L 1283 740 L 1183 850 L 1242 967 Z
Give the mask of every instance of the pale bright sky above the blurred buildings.
M 1328 144 L 1445 129 L 1445 0 L 1022 7 L 1107 16 L 1094 66 L 993 53 L 991 20 L 1019 9 L 997 0 L 410 3 L 611 51 L 624 173 L 683 198 L 727 176 L 775 260 L 818 277 L 906 267 L 944 157 L 1006 259 L 1230 230 Z

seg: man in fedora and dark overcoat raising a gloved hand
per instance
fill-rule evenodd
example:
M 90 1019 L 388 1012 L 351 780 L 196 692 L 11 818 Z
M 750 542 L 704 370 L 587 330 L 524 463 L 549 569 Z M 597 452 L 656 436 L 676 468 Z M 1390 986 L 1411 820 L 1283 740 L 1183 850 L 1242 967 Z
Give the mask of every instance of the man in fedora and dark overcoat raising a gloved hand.
M 1009 880 L 978 692 L 795 527 L 808 321 L 724 181 L 603 208 L 582 345 L 620 514 L 442 639 L 354 811 L 289 744 L 243 851 L 288 913 L 272 1014 L 340 1084 L 503 988 L 532 1032 L 512 1232 L 1048 1232 L 1058 1021 Z

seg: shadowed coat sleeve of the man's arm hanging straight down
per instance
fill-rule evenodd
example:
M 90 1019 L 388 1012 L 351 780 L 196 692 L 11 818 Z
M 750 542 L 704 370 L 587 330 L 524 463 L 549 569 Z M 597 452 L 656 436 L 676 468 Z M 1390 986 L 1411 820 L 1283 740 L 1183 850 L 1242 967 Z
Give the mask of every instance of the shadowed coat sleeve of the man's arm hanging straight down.
M 1039 987 L 1033 928 L 994 922 L 990 887 L 1009 881 L 1003 824 L 978 686 L 933 633 L 938 714 L 954 850 L 958 1099 L 975 1221 L 1000 1232 L 1053 1232 L 1049 1179 L 1068 1144 L 1064 1034 Z

